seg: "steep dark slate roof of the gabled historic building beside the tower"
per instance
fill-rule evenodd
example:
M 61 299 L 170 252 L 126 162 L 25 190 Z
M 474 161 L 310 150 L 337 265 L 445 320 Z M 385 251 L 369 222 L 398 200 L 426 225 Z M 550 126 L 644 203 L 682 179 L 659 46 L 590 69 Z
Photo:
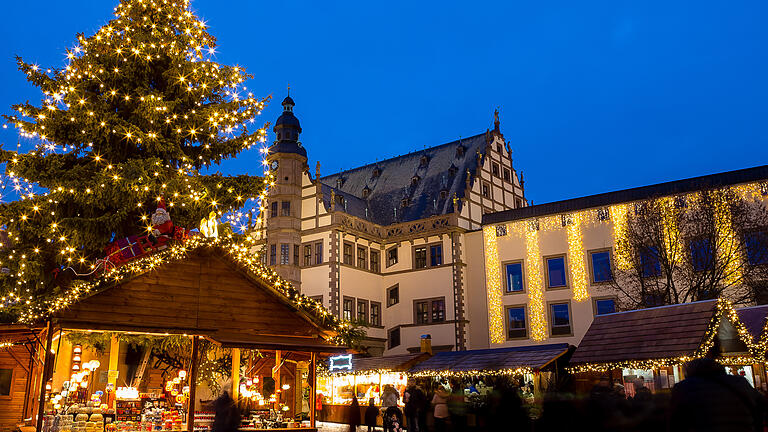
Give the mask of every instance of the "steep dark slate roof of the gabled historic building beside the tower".
M 464 147 L 463 155 L 457 148 Z M 323 201 L 330 208 L 331 191 L 344 197 L 336 210 L 379 225 L 410 222 L 453 212 L 453 196 L 464 196 L 467 171 L 477 170 L 477 154 L 485 155 L 485 133 L 396 158 L 321 177 Z M 422 157 L 426 156 L 426 164 Z M 451 168 L 455 174 L 451 175 Z M 378 169 L 380 175 L 374 176 Z M 414 176 L 418 180 L 413 183 Z M 340 182 L 339 182 L 340 180 Z M 368 195 L 364 195 L 364 189 Z M 441 198 L 440 192 L 446 191 Z M 409 204 L 402 206 L 404 198 Z

